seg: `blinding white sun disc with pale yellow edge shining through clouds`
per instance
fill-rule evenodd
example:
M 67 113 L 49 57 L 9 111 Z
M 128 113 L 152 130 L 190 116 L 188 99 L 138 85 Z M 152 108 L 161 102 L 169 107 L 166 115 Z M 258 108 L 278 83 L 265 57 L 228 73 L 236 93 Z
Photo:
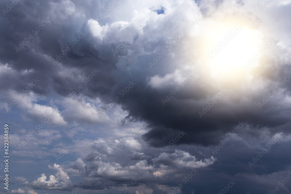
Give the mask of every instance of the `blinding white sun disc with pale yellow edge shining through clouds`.
M 212 25 L 203 36 L 207 37 L 202 47 L 204 65 L 212 70 L 213 77 L 235 79 L 242 76 L 250 60 L 258 58 L 262 52 L 262 34 L 246 25 Z

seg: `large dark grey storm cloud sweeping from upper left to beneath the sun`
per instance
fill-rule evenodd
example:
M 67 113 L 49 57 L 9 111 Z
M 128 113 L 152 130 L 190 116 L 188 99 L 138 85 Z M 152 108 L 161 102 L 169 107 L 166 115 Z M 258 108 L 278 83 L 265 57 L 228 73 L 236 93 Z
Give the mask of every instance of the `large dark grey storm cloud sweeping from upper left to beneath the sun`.
M 5 6 L 8 2 L 3 1 L 2 5 Z M 239 121 L 244 121 L 254 126 L 276 128 L 276 131 L 285 131 L 285 129 L 290 127 L 290 118 L 286 115 L 289 112 L 288 110 L 285 110 L 287 112 L 275 121 L 272 119 L 274 115 L 278 115 L 282 111 L 275 109 L 262 111 L 257 106 L 254 106 L 254 101 L 260 101 L 267 92 L 272 91 L 272 88 L 270 88 L 270 91 L 258 91 L 255 96 L 251 94 L 249 97 L 251 99 L 250 102 L 253 103 L 252 105 L 243 102 L 238 104 L 235 98 L 222 99 L 203 118 L 200 118 L 198 112 L 202 112 L 203 108 L 208 105 L 207 103 L 212 101 L 209 101 L 207 96 L 219 92 L 219 90 L 211 87 L 209 83 L 204 83 L 205 79 L 201 77 L 191 79 L 183 88 L 177 84 L 179 82 L 173 83 L 170 86 L 161 85 L 160 88 L 149 86 L 146 81 L 147 77 L 155 75 L 163 77 L 166 74 L 172 73 L 179 63 L 191 63 L 189 56 L 186 56 L 184 60 L 179 59 L 185 57 L 185 54 L 188 53 L 188 51 L 182 51 L 182 48 L 189 41 L 189 36 L 181 38 L 181 40 L 177 41 L 176 45 L 170 44 L 171 50 L 168 48 L 169 44 L 167 44 L 168 41 L 175 40 L 176 35 L 187 33 L 189 29 L 187 22 L 180 22 L 180 24 L 175 24 L 168 20 L 164 21 L 168 23 L 161 22 L 161 25 L 169 30 L 179 26 L 179 31 L 171 31 L 170 34 L 166 35 L 166 32 L 157 31 L 158 29 L 152 30 L 153 26 L 149 21 L 142 29 L 143 33 L 138 32 L 132 37 L 130 32 L 135 29 L 134 26 L 127 26 L 119 30 L 121 35 L 117 37 L 116 31 L 118 27 L 113 27 L 112 25 L 105 27 L 108 24 L 103 24 L 104 26 L 100 26 L 101 28 L 109 29 L 104 31 L 105 35 L 102 35 L 102 38 L 100 38 L 100 36 L 94 36 L 92 30 L 90 32 L 92 26 L 87 22 L 92 17 L 93 10 L 89 9 L 90 11 L 87 13 L 80 9 L 79 13 L 76 11 L 74 14 L 69 14 L 69 17 L 65 17 L 65 14 L 60 12 L 56 15 L 58 17 L 55 17 L 52 15 L 55 11 L 66 11 L 64 3 L 61 3 L 59 7 L 56 7 L 55 3 L 60 2 L 53 3 L 46 1 L 33 3 L 31 1 L 22 1 L 7 15 L 1 16 L 3 26 L 9 26 L 3 27 L 0 34 L 2 37 L 2 48 L 5 48 L 1 52 L 1 63 L 8 63 L 8 67 L 14 69 L 14 72 L 9 76 L 7 74 L 1 76 L 1 83 L 3 85 L 1 88 L 8 89 L 10 85 L 13 85 L 13 89 L 21 92 L 21 89 L 32 78 L 39 77 L 41 81 L 32 89 L 34 92 L 45 95 L 49 93 L 49 88 L 53 88 L 58 94 L 66 96 L 69 92 L 72 92 L 70 88 L 84 83 L 82 82 L 83 78 L 80 79 L 78 76 L 84 77 L 91 72 L 92 68 L 97 68 L 100 70 L 100 74 L 94 76 L 81 93 L 89 97 L 101 97 L 104 102 L 109 103 L 110 99 L 115 99 L 117 96 L 120 97 L 119 92 L 126 88 L 129 81 L 134 81 L 136 83 L 134 89 L 126 94 L 124 93 L 124 97 L 121 97 L 118 103 L 122 104 L 123 108 L 129 111 L 130 116 L 148 118 L 151 131 L 145 134 L 144 138 L 153 146 L 166 145 L 167 139 L 175 137 L 175 133 L 179 130 L 184 130 L 189 134 L 179 144 L 214 144 L 221 135 L 221 132 L 218 131 L 222 131 L 222 133 L 229 131 Z M 74 9 L 77 9 L 78 5 L 78 3 L 74 5 Z M 17 6 L 22 6 L 22 9 L 17 8 Z M 67 6 L 69 6 L 69 3 Z M 85 3 L 82 6 L 88 5 Z M 74 15 L 78 15 L 77 20 L 72 19 Z M 173 15 L 169 16 L 169 18 L 171 17 Z M 181 18 L 182 16 L 179 17 Z M 17 20 L 14 18 L 17 18 Z M 33 35 L 34 38 L 30 40 L 28 45 L 24 46 L 17 53 L 15 47 L 19 47 L 19 42 L 29 37 L 29 34 L 32 34 L 32 30 L 42 23 L 42 19 L 49 21 L 48 24 L 43 26 L 43 29 L 37 35 Z M 97 19 L 102 24 L 103 20 Z M 86 35 L 72 47 L 70 45 L 71 40 L 77 37 L 80 32 L 85 32 Z M 157 39 L 150 38 L 148 36 L 150 32 Z M 158 35 L 164 35 L 166 40 L 159 39 Z M 168 37 L 169 35 L 170 37 Z M 120 55 L 125 58 L 120 58 L 118 62 L 118 58 L 112 55 L 112 49 L 127 37 L 131 41 L 120 51 Z M 56 60 L 56 55 L 60 56 L 61 51 L 66 47 L 70 47 L 70 51 L 60 60 L 63 66 L 52 63 L 50 59 Z M 150 55 L 142 54 L 141 48 L 148 52 L 155 50 L 157 52 Z M 150 68 L 148 63 L 152 62 L 153 57 L 159 56 L 163 49 L 168 54 L 175 53 L 177 57 L 171 60 L 170 55 L 165 55 L 153 68 Z M 198 65 L 193 64 L 193 66 L 195 67 L 195 74 L 201 73 L 199 72 Z M 70 70 L 68 75 L 64 76 L 64 74 L 58 73 L 60 71 L 67 72 L 67 68 L 72 67 L 74 69 Z M 29 76 L 21 76 L 21 71 L 24 70 L 31 70 Z M 267 74 L 272 72 L 268 67 L 264 70 L 261 75 L 263 77 L 268 76 Z M 289 72 L 287 66 L 285 74 Z M 187 75 L 183 74 L 183 76 L 186 78 Z M 283 76 L 283 73 L 278 74 L 273 80 L 280 81 L 283 79 Z M 175 90 L 176 87 L 180 87 L 180 91 L 177 92 L 177 95 L 170 102 L 163 106 L 161 100 L 165 100 L 166 95 L 169 95 L 171 90 Z M 288 93 L 290 83 L 287 83 L 283 88 L 286 88 Z M 222 89 L 223 87 L 221 87 Z M 215 92 L 215 90 L 217 91 Z M 240 91 L 240 88 L 232 90 L 231 92 L 236 92 Z M 242 95 L 239 97 L 243 97 Z M 276 106 L 277 103 L 269 102 L 264 108 Z M 167 133 L 166 131 L 172 132 Z

